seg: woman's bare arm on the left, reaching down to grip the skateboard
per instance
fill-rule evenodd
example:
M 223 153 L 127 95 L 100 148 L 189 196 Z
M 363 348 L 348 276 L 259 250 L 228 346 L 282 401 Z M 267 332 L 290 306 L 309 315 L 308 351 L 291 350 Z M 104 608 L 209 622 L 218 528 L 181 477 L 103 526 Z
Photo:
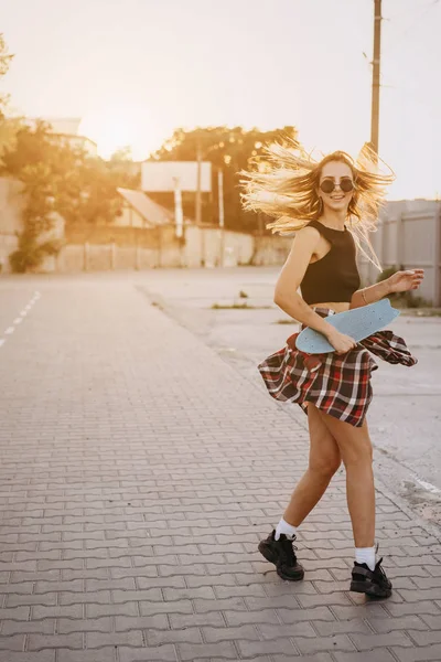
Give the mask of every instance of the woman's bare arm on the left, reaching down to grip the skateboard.
M 320 242 L 315 227 L 304 227 L 297 232 L 290 254 L 280 273 L 275 289 L 275 303 L 289 316 L 327 338 L 337 353 L 352 350 L 356 342 L 349 335 L 340 333 L 324 318 L 314 312 L 298 289 Z

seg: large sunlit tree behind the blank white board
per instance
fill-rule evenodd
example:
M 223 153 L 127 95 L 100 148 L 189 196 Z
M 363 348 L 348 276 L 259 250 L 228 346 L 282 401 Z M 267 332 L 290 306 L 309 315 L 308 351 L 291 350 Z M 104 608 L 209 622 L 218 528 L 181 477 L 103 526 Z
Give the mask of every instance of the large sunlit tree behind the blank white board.
M 257 216 L 245 212 L 240 203 L 239 172 L 249 168 L 249 160 L 263 154 L 263 146 L 284 138 L 295 138 L 292 126 L 271 131 L 257 128 L 245 130 L 243 127 L 207 127 L 191 131 L 176 129 L 171 138 L 151 156 L 157 161 L 195 161 L 201 150 L 202 159 L 213 164 L 213 195 L 203 195 L 203 220 L 218 222 L 217 171 L 224 172 L 225 225 L 232 229 L 254 232 L 257 229 Z M 150 194 L 149 194 L 150 195 Z M 172 195 L 151 194 L 158 202 L 172 205 Z M 183 195 L 184 213 L 194 218 L 194 194 Z

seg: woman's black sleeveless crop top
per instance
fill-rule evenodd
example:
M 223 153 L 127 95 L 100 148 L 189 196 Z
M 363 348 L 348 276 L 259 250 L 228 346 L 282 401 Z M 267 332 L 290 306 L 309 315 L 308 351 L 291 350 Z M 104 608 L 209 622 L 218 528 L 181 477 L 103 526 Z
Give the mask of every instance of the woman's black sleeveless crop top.
M 308 225 L 315 227 L 330 242 L 331 250 L 322 259 L 308 265 L 300 285 L 303 299 L 309 305 L 349 302 L 361 285 L 351 232 L 347 227 L 344 231 L 332 229 L 320 221 L 311 221 Z

